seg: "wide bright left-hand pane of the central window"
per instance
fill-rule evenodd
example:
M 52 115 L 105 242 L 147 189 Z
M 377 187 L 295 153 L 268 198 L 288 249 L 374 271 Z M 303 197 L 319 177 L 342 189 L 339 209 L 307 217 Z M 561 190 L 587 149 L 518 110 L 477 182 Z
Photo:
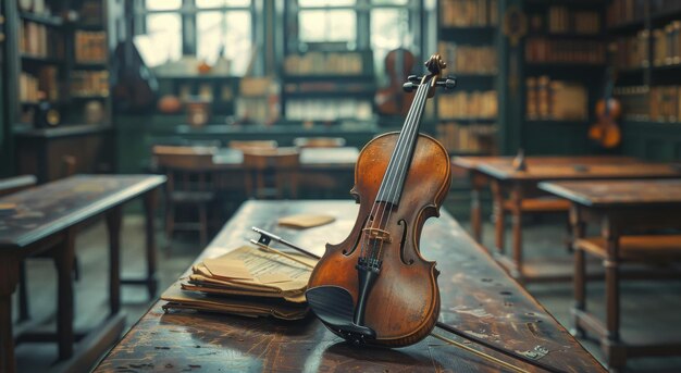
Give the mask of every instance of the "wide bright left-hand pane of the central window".
M 355 11 L 300 11 L 298 20 L 301 41 L 355 41 L 356 39 L 357 16 Z

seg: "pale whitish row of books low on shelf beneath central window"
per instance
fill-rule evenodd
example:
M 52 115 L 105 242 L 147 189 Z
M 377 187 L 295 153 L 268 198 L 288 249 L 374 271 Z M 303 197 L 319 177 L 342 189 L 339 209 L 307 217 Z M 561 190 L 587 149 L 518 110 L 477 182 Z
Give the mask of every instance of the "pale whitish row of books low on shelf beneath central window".
M 373 115 L 371 100 L 358 99 L 288 99 L 286 119 L 290 121 L 339 120 L 368 121 Z

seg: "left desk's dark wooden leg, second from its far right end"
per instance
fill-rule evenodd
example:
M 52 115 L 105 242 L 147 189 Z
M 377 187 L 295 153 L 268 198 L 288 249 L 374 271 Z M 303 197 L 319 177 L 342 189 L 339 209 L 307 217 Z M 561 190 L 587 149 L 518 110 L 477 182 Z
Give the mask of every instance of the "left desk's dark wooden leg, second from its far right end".
M 109 307 L 114 315 L 121 310 L 121 220 L 120 206 L 107 212 L 109 232 Z

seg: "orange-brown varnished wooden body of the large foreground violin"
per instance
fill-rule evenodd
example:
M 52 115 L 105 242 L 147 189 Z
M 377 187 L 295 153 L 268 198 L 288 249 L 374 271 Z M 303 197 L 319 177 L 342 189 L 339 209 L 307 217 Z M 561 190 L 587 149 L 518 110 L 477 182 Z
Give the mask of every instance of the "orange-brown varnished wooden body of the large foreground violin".
M 421 340 L 433 330 L 439 314 L 439 272 L 435 262 L 421 256 L 419 241 L 425 220 L 439 215 L 451 181 L 446 149 L 432 137 L 419 134 L 399 204 L 380 202 L 389 211 L 381 214 L 383 217 L 373 216 L 376 211 L 373 203 L 398 135 L 384 134 L 362 149 L 355 169 L 355 187 L 350 191 L 360 204 L 355 226 L 343 243 L 326 245 L 326 252 L 309 282 L 309 288 L 344 288 L 350 294 L 352 304 L 357 304 L 360 281 L 356 266 L 361 247 L 366 245 L 363 232 L 368 222 L 382 219 L 383 229 L 391 239 L 382 245 L 381 274 L 369 291 L 363 323 L 375 332 L 375 338 L 369 344 L 385 347 Z M 340 331 L 330 328 L 344 336 Z

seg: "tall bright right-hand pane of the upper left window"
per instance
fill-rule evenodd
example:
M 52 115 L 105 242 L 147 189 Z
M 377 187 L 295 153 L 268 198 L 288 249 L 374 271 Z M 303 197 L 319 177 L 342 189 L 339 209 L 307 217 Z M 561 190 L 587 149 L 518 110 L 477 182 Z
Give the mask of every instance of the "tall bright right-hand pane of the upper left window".
M 244 74 L 251 48 L 250 12 L 199 12 L 197 27 L 197 57 L 212 65 L 223 52 L 232 74 Z

